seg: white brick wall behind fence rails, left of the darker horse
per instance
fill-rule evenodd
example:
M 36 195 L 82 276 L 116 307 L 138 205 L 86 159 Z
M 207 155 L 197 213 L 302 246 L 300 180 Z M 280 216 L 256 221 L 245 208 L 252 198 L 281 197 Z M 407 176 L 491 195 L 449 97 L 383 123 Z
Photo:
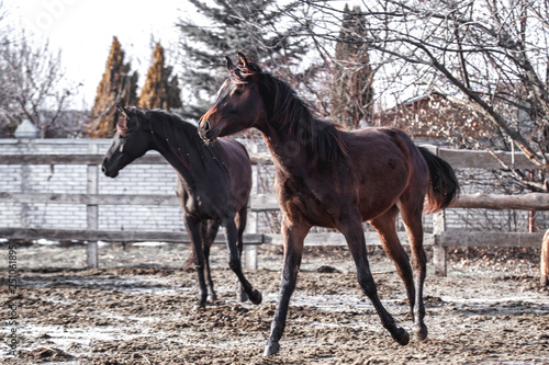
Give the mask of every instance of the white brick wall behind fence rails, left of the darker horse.
M 107 152 L 110 139 L 38 139 L 20 142 L 0 139 L 0 155 L 85 155 L 89 144 Z M 155 152 L 148 152 L 155 153 Z M 0 191 L 10 193 L 86 194 L 87 166 L 7 166 L 0 161 Z M 100 194 L 175 195 L 177 174 L 169 164 L 130 164 L 116 179 L 99 173 Z M 83 204 L 0 204 L 0 226 L 27 228 L 86 229 Z M 184 230 L 181 208 L 158 206 L 100 206 L 99 229 Z

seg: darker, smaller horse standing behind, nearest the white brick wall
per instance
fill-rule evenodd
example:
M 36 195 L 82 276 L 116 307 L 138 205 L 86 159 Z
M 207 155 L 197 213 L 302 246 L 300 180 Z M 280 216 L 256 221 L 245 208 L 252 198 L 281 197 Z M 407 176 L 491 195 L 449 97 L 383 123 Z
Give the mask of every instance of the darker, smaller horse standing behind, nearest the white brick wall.
M 229 138 L 206 146 L 194 125 L 165 111 L 117 109 L 116 134 L 104 156 L 102 171 L 107 176 L 116 178 L 121 169 L 148 150 L 160 152 L 173 167 L 178 174 L 176 193 L 199 277 L 197 307 L 204 308 L 208 298 L 204 265 L 211 299 L 216 300 L 209 256 L 220 225 L 225 230 L 231 270 L 251 303 L 260 304 L 261 293 L 248 283 L 240 264 L 251 190 L 251 166 L 246 148 Z M 244 300 L 246 296 L 242 295 Z

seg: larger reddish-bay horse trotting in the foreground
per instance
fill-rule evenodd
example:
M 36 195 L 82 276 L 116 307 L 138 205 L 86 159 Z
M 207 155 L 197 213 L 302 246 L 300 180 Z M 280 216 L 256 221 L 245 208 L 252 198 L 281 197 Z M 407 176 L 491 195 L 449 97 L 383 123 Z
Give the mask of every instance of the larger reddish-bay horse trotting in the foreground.
M 459 185 L 451 167 L 416 147 L 396 128 L 344 132 L 315 118 L 288 83 L 264 72 L 242 53 L 237 66 L 226 57 L 226 67 L 229 77 L 200 118 L 199 133 L 204 140 L 214 141 L 250 127 L 261 132 L 272 155 L 274 192 L 283 213 L 280 294 L 264 355 L 280 349 L 303 240 L 313 226 L 336 228 L 344 235 L 362 290 L 383 327 L 397 343 L 406 345 L 410 335 L 381 304 L 370 272 L 362 223 L 376 228 L 406 287 L 417 335 L 425 340 L 422 214 L 424 202 L 433 213 L 456 197 Z M 399 212 L 406 226 L 412 265 L 396 233 Z

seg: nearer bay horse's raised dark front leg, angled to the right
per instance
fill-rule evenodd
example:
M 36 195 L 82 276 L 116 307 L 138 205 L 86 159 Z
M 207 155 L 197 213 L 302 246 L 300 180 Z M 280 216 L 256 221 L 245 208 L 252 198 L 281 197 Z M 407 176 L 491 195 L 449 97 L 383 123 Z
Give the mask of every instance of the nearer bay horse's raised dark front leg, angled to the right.
M 383 327 L 391 333 L 391 337 L 396 342 L 401 345 L 406 345 L 410 341 L 408 333 L 405 329 L 395 324 L 393 317 L 385 310 L 378 297 L 378 289 L 376 288 L 376 283 L 373 282 L 370 265 L 368 263 L 365 233 L 359 217 L 358 214 L 356 217 L 349 216 L 341 220 L 339 227 L 347 240 L 352 259 L 355 260 L 358 283 L 376 308 Z

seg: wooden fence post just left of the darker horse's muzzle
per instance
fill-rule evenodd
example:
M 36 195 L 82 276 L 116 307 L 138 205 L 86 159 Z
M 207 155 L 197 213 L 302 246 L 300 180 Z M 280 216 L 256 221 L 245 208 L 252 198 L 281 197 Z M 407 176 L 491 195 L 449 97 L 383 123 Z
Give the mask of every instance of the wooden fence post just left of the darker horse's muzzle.
M 88 145 L 89 153 L 98 153 L 98 145 L 90 144 Z M 97 164 L 88 164 L 88 194 L 98 194 L 99 193 L 99 167 Z M 87 228 L 88 230 L 97 230 L 98 229 L 98 220 L 99 220 L 99 207 L 93 204 L 88 204 L 86 206 L 86 217 L 87 217 Z M 88 242 L 87 246 L 87 264 L 89 269 L 97 269 L 99 266 L 99 249 L 98 242 L 92 241 Z

